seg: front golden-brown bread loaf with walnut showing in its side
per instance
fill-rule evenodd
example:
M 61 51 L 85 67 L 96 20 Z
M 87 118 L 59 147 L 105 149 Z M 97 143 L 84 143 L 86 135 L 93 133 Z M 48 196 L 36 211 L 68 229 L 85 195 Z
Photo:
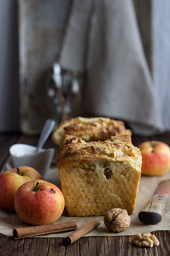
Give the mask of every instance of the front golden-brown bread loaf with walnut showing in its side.
M 57 151 L 68 216 L 99 216 L 113 208 L 132 214 L 141 176 L 141 151 L 131 142 L 87 143 L 76 137 Z

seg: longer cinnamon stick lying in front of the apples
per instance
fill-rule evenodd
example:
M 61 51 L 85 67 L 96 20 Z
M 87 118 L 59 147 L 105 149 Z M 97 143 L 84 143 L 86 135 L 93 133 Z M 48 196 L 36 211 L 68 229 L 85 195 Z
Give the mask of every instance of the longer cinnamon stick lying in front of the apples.
M 14 239 L 24 237 L 40 236 L 45 234 L 52 234 L 62 231 L 69 231 L 77 229 L 76 221 L 68 221 L 63 223 L 49 224 L 43 226 L 32 226 L 26 228 L 15 228 L 13 230 Z

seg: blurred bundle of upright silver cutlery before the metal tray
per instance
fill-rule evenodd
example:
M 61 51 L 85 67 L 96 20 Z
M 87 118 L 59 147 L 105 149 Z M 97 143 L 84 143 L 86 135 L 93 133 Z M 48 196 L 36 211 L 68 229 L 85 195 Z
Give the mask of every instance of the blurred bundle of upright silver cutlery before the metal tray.
M 46 91 L 56 108 L 56 125 L 71 117 L 71 101 L 79 93 L 80 86 L 76 72 L 63 72 L 55 63 L 53 71 L 46 78 Z

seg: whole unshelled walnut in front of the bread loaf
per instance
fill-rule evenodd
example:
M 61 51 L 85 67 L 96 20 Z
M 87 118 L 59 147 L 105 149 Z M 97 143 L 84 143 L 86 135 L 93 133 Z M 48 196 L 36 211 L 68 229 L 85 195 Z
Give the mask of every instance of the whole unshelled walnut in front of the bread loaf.
M 114 208 L 108 210 L 104 217 L 105 226 L 114 232 L 120 232 L 127 229 L 130 225 L 130 217 L 127 210 Z

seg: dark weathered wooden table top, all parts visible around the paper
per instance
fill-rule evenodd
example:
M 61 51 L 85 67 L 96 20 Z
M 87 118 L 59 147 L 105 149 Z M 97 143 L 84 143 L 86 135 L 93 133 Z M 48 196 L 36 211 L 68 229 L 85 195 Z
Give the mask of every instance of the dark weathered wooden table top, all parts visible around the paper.
M 29 137 L 21 133 L 3 133 L 0 134 L 0 170 L 9 160 L 9 147 L 15 143 L 25 143 L 36 146 L 39 136 Z M 132 143 L 138 146 L 139 143 L 146 140 L 164 141 L 170 146 L 170 132 L 161 135 L 144 137 L 132 136 Z M 43 148 L 56 147 L 50 138 L 46 141 Z M 56 155 L 52 165 L 56 165 Z M 62 238 L 25 238 L 14 240 L 0 234 L 0 256 L 169 256 L 170 255 L 170 231 L 155 231 L 160 245 L 158 247 L 136 247 L 131 242 L 131 236 L 90 236 L 82 237 L 71 245 L 64 245 Z

